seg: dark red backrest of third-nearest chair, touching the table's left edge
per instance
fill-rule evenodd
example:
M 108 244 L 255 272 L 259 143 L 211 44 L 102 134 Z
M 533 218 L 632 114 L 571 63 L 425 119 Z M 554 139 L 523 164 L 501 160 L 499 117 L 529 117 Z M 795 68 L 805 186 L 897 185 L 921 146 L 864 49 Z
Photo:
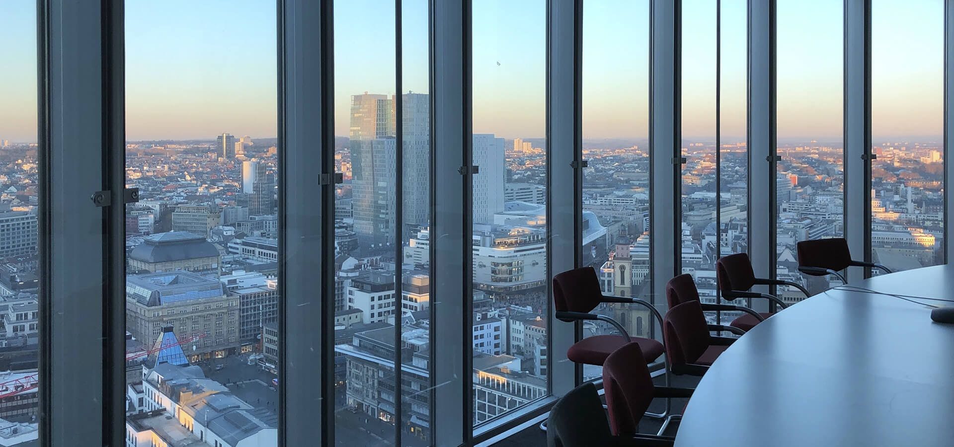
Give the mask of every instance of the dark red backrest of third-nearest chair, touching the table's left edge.
M 686 301 L 670 308 L 663 318 L 663 339 L 670 365 L 695 363 L 712 341 L 702 304 Z

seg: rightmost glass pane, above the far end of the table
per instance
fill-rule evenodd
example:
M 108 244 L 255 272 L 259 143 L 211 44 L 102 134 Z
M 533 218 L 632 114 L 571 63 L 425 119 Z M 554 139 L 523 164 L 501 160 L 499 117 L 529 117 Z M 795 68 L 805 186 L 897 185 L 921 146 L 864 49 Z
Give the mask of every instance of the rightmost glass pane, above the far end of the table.
M 871 22 L 871 260 L 944 264 L 944 2 L 875 0 Z

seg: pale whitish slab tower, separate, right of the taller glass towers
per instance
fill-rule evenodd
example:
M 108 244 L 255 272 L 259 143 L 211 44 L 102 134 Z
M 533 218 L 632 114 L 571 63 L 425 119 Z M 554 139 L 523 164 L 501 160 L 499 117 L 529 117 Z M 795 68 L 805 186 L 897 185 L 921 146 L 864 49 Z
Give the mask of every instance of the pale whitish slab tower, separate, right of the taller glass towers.
M 473 221 L 493 223 L 493 214 L 504 211 L 504 139 L 493 133 L 474 133 Z

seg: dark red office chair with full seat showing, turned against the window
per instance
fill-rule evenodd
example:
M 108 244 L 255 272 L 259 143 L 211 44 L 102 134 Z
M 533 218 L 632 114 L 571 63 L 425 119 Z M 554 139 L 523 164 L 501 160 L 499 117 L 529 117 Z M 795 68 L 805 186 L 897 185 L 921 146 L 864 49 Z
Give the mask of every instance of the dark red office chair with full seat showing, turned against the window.
M 553 305 L 556 309 L 556 317 L 567 322 L 599 320 L 610 323 L 620 335 L 593 335 L 583 338 L 570 346 L 567 350 L 567 358 L 575 363 L 587 365 L 602 366 L 606 358 L 613 351 L 619 349 L 630 342 L 639 344 L 642 350 L 644 361 L 647 363 L 662 356 L 666 349 L 663 343 L 653 338 L 633 336 L 631 337 L 626 329 L 618 321 L 607 315 L 591 314 L 591 311 L 601 303 L 626 303 L 638 304 L 650 310 L 650 312 L 659 321 L 659 327 L 662 327 L 662 315 L 655 309 L 649 301 L 640 298 L 626 296 L 603 295 L 599 287 L 599 278 L 592 267 L 581 267 L 573 269 L 562 274 L 553 276 Z M 668 371 L 668 361 L 663 356 L 666 371 Z M 669 385 L 669 374 L 665 375 L 666 384 Z M 669 401 L 666 402 L 666 411 L 663 413 L 650 413 L 649 417 L 668 417 Z

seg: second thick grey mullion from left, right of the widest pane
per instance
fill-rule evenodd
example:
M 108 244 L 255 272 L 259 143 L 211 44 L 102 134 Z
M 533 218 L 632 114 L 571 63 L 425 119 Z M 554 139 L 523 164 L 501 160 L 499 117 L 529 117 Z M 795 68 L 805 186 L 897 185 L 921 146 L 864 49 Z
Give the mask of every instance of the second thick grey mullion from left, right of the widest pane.
M 331 0 L 279 22 L 280 445 L 334 445 Z

